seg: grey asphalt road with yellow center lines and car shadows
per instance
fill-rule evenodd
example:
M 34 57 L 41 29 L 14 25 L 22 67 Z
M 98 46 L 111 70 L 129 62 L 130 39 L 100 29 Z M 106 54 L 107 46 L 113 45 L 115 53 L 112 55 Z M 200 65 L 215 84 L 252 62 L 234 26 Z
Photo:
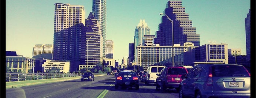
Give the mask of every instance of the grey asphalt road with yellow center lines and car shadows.
M 156 91 L 155 84 L 140 83 L 140 89 L 115 89 L 115 76 L 97 76 L 95 80 L 81 82 L 67 80 L 7 88 L 5 98 L 178 98 L 175 90 Z

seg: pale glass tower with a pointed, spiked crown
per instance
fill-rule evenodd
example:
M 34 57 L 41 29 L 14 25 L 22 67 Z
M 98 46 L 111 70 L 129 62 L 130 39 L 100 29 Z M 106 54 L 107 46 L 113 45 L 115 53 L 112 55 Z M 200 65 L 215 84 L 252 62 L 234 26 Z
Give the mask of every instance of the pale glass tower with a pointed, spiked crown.
M 146 24 L 145 19 L 141 20 L 134 31 L 134 61 L 137 61 L 137 46 L 144 46 L 144 35 L 150 35 L 150 29 Z

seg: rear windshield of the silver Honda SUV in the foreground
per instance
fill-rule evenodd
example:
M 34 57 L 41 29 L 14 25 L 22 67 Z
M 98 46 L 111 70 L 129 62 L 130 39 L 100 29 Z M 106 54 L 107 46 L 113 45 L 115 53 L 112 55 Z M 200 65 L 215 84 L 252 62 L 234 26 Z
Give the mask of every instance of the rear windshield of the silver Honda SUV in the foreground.
M 219 65 L 212 66 L 212 76 L 246 76 L 249 77 L 248 72 L 243 66 L 236 65 Z

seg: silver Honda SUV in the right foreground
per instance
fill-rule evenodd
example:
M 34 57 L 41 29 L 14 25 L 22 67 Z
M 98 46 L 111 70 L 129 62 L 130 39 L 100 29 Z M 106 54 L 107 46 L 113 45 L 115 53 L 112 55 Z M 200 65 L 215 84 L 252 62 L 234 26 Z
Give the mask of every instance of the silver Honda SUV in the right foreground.
M 251 98 L 251 73 L 237 64 L 198 64 L 180 83 L 179 98 Z

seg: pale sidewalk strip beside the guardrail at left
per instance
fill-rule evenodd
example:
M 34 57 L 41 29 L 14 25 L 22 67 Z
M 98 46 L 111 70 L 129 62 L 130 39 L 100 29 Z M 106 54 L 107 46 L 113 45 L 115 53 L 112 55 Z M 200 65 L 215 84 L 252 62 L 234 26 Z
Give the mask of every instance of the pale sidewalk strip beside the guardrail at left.
M 103 75 L 94 75 L 96 76 L 104 76 Z M 22 87 L 22 86 L 31 86 L 36 84 L 44 84 L 44 83 L 52 83 L 52 82 L 60 82 L 60 81 L 66 81 L 66 80 L 74 80 L 74 79 L 80 79 L 81 76 L 77 77 L 66 77 L 66 78 L 53 78 L 53 79 L 40 79 L 40 80 L 27 80 L 27 81 L 17 81 L 17 82 L 5 82 L 5 89 L 7 88 L 16 88 L 16 87 Z

